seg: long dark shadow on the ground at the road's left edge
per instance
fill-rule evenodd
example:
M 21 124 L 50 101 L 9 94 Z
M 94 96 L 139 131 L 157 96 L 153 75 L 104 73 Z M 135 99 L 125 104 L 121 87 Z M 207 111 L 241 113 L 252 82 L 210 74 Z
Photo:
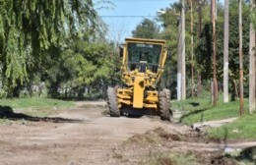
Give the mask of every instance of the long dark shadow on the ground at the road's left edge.
M 0 119 L 13 121 L 26 120 L 31 122 L 51 122 L 51 123 L 82 123 L 83 120 L 67 119 L 58 117 L 34 117 L 24 113 L 15 113 L 9 106 L 0 106 Z

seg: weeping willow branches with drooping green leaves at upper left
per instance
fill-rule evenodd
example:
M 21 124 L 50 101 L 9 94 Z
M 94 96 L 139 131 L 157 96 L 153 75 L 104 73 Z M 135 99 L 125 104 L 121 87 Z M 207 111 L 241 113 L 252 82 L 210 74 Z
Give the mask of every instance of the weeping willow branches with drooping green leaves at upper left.
M 65 44 L 67 34 L 94 35 L 100 27 L 92 0 L 0 0 L 0 6 L 1 76 L 9 96 L 38 72 L 45 52 Z

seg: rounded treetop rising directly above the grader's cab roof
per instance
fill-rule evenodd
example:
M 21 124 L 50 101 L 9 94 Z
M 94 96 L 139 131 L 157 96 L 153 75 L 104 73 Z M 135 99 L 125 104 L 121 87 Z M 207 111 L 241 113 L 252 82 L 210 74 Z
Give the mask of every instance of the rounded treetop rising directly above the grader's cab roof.
M 141 37 L 141 38 L 159 38 L 160 27 L 158 25 L 149 20 L 144 19 L 136 28 L 132 31 L 133 37 Z

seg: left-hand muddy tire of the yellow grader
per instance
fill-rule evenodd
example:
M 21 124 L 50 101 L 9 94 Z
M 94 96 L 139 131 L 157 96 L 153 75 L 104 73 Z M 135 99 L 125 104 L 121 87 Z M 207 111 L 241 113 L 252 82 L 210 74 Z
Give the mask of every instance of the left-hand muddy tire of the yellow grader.
M 107 88 L 107 103 L 111 117 L 120 117 L 120 110 L 118 108 L 116 89 L 108 86 Z

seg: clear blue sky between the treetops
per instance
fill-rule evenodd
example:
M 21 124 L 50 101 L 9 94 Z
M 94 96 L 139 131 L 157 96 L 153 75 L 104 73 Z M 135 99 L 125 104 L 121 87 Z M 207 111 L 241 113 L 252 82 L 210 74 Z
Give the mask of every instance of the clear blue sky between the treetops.
M 154 20 L 154 17 L 158 15 L 157 11 L 169 7 L 174 2 L 179 2 L 179 0 L 109 0 L 114 5 L 107 5 L 97 4 L 98 1 L 100 0 L 94 0 L 96 8 L 99 8 L 97 9 L 98 15 L 108 27 L 107 38 L 115 42 L 122 42 L 125 37 L 131 37 L 132 30 L 144 18 Z M 102 6 L 108 6 L 111 9 L 100 8 Z

